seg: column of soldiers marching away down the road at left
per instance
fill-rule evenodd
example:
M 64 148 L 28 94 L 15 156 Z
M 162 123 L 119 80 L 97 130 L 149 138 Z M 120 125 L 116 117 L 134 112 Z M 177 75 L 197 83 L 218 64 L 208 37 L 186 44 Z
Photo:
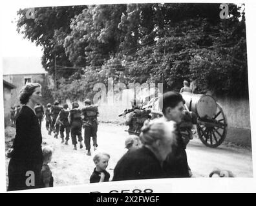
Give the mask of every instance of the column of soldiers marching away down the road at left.
M 58 138 L 60 133 L 61 143 L 68 145 L 69 136 L 71 136 L 72 145 L 74 150 L 77 150 L 79 142 L 80 149 L 83 148 L 83 137 L 81 135 L 82 127 L 85 130 L 84 143 L 87 150 L 87 155 L 91 155 L 91 137 L 93 141 L 94 151 L 97 149 L 97 131 L 98 131 L 98 106 L 94 106 L 91 100 L 84 100 L 85 106 L 79 109 L 78 102 L 72 102 L 72 109 L 69 109 L 68 104 L 59 106 L 56 100 L 54 106 L 50 103 L 47 104 L 45 109 L 45 120 L 48 135 L 54 132 L 54 138 Z M 64 136 L 64 131 L 65 135 Z M 65 137 L 65 140 L 64 140 Z

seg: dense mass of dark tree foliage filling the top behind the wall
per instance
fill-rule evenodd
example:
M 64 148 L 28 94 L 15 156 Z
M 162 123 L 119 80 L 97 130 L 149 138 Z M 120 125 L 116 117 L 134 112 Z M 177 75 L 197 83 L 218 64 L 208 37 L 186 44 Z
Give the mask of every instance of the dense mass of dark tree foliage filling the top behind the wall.
M 91 97 L 93 85 L 164 82 L 164 90 L 195 81 L 197 92 L 248 95 L 244 12 L 229 4 L 129 4 L 36 8 L 19 11 L 18 30 L 43 46 L 43 66 L 54 74 L 57 55 L 65 98 Z M 61 72 L 60 72 L 61 69 Z M 86 92 L 85 92 L 86 91 Z

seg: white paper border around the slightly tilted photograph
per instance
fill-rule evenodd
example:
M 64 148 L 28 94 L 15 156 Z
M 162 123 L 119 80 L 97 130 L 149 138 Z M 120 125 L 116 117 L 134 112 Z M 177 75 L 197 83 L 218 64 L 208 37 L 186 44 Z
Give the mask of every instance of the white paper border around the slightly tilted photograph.
M 251 147 L 253 160 L 256 158 L 256 72 L 255 72 L 255 48 L 256 48 L 256 27 L 255 27 L 255 15 L 256 15 L 256 2 L 253 0 L 244 1 L 109 1 L 109 3 L 245 3 L 246 13 L 246 42 L 247 42 L 247 55 L 248 55 L 248 82 L 249 82 L 249 98 L 250 98 L 250 122 L 251 122 Z M 31 8 L 40 6 L 67 6 L 67 5 L 94 5 L 94 4 L 107 4 L 107 1 L 81 1 L 81 0 L 45 0 L 45 1 L 4 1 L 1 2 L 1 10 L 10 6 L 16 5 L 20 8 Z M 1 25 L 5 21 L 5 18 L 1 16 Z M 1 29 L 1 33 L 5 30 Z M 1 38 L 2 41 L 5 39 Z M 1 47 L 1 60 L 5 48 Z M 2 61 L 1 61 L 2 62 Z M 3 80 L 3 68 L 2 63 L 0 64 L 1 73 L 0 78 Z M 3 111 L 3 84 L 0 88 L 1 98 L 1 114 Z M 4 129 L 4 118 L 0 118 L 0 131 L 1 143 L 0 143 L 0 192 L 6 192 L 6 168 L 5 168 L 5 129 Z M 255 161 L 253 161 L 254 163 Z M 162 180 L 138 180 L 138 181 L 125 181 L 125 182 L 105 182 L 105 183 L 93 183 L 85 185 L 70 185 L 63 187 L 53 187 L 47 189 L 34 189 L 22 192 L 109 192 L 112 190 L 122 191 L 133 189 L 147 189 L 151 188 L 154 192 L 256 192 L 256 169 L 253 164 L 253 176 L 254 178 L 174 178 L 174 179 L 162 179 Z M 18 191 L 17 191 L 18 192 Z

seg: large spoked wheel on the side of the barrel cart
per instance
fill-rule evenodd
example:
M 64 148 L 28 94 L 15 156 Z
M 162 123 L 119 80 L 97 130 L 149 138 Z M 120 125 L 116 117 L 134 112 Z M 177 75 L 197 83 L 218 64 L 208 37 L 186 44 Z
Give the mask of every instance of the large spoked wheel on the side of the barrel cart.
M 217 112 L 211 120 L 198 120 L 197 133 L 203 144 L 208 147 L 218 147 L 226 138 L 227 127 L 227 118 L 217 103 Z

